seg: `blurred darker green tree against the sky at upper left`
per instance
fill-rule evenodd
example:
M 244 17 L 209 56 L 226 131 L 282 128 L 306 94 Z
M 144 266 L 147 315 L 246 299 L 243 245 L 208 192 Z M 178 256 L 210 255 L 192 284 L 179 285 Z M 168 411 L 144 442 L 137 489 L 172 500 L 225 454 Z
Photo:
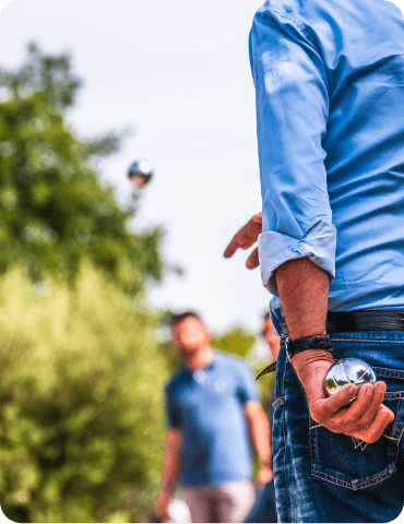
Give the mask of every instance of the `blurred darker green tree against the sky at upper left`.
M 25 64 L 0 71 L 0 272 L 22 261 L 33 282 L 52 273 L 73 283 L 85 257 L 135 295 L 163 278 L 163 230 L 131 233 L 136 198 L 122 210 L 91 167 L 124 133 L 80 140 L 68 127 L 81 86 L 70 62 L 32 44 Z

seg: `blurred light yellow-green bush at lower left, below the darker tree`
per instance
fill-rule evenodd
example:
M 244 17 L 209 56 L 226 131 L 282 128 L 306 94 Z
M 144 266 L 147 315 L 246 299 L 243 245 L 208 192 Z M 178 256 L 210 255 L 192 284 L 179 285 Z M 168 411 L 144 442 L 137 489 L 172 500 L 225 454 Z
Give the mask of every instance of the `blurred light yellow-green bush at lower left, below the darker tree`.
M 70 303 L 74 298 L 74 309 Z M 156 315 L 84 263 L 0 277 L 0 503 L 15 522 L 146 522 L 162 466 Z

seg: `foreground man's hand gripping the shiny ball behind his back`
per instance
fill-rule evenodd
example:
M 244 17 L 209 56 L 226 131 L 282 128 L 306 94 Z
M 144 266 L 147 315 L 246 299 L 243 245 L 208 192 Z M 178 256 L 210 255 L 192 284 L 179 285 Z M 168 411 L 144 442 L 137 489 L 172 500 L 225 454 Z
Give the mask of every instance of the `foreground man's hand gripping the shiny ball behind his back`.
M 358 392 L 354 384 L 345 384 L 328 397 L 323 382 L 333 358 L 330 352 L 318 349 L 298 353 L 293 366 L 302 383 L 311 418 L 334 433 L 344 433 L 365 442 L 376 442 L 384 428 L 394 420 L 394 414 L 382 404 L 385 383 L 364 384 Z M 343 407 L 355 395 L 349 407 Z

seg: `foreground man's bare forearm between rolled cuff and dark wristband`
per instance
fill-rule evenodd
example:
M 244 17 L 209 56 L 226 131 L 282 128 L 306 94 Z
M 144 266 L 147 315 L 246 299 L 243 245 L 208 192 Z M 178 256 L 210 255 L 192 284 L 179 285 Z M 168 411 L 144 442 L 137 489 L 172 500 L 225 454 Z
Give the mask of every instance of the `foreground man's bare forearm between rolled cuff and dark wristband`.
M 329 274 L 305 257 L 280 265 L 275 278 L 290 338 L 324 334 Z

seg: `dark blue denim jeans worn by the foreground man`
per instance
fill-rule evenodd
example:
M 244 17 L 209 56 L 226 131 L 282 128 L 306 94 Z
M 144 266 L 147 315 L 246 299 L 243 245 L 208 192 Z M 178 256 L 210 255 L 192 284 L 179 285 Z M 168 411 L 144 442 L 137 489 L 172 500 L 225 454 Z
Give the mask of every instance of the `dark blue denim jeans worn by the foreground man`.
M 388 523 L 404 505 L 404 331 L 331 338 L 334 359 L 360 358 L 387 383 L 384 404 L 394 420 L 367 445 L 319 426 L 282 345 L 272 434 L 278 519 L 282 524 Z

